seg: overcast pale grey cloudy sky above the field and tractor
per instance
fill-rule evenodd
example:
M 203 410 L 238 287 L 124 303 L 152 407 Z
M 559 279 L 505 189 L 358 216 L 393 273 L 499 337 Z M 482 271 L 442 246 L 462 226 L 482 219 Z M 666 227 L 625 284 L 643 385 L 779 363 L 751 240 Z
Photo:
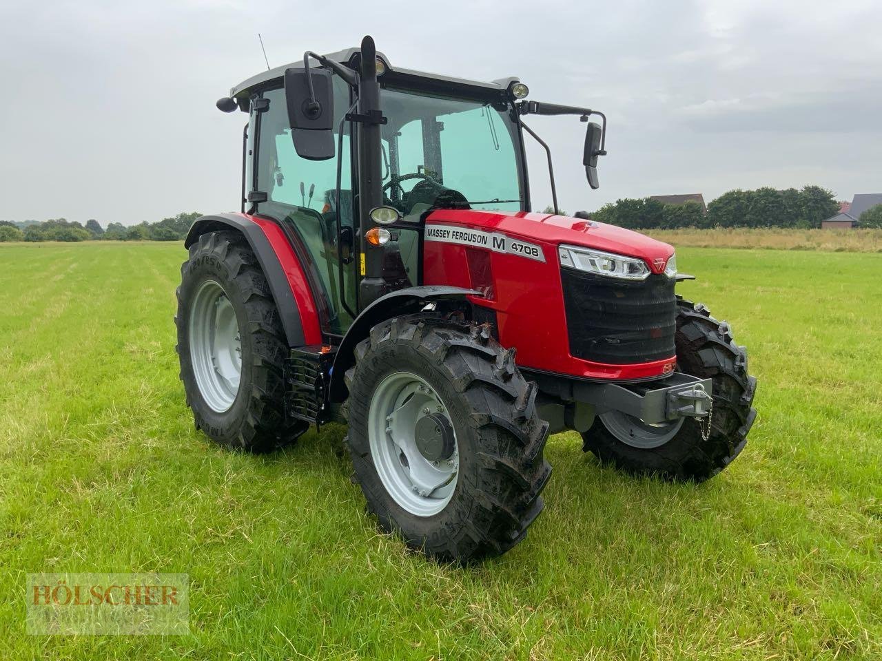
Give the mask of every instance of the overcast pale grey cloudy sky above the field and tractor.
M 597 191 L 578 118 L 532 120 L 570 211 L 763 185 L 882 191 L 878 0 L 45 0 L 0 7 L 0 219 L 237 208 L 244 115 L 214 101 L 264 67 L 258 32 L 273 66 L 370 33 L 393 66 L 517 75 L 532 99 L 604 110 Z M 542 208 L 547 170 L 530 158 Z

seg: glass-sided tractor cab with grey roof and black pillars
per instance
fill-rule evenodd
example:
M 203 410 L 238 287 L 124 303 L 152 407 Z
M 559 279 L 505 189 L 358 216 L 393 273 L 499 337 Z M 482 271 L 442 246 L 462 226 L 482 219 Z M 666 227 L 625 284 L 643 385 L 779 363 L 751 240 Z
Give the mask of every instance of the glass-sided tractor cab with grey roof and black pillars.
M 318 65 L 310 65 L 312 59 Z M 399 69 L 382 53 L 374 62 L 369 68 L 382 103 L 373 117 L 359 111 L 363 81 L 352 85 L 339 75 L 361 71 L 362 50 L 355 48 L 258 74 L 218 102 L 249 114 L 242 211 L 280 223 L 307 258 L 329 339 L 344 335 L 384 293 L 424 284 L 420 244 L 427 212 L 530 211 L 524 130 L 532 131 L 521 115 L 542 107 L 522 101 L 527 85 L 517 78 L 482 83 Z M 322 111 L 310 126 L 292 106 L 313 97 Z M 569 111 L 583 118 L 592 113 Z M 587 141 L 598 139 L 602 130 L 592 124 Z M 600 152 L 600 143 L 594 147 Z M 370 189 L 360 195 L 367 182 Z M 377 207 L 388 210 L 394 227 L 372 221 Z M 367 234 L 371 227 L 377 245 Z

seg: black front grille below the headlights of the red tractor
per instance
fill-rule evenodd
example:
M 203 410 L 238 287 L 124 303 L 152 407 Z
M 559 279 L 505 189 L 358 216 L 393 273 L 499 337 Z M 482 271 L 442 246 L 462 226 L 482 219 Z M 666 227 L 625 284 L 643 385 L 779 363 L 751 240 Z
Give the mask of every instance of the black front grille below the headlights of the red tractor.
M 570 353 L 616 365 L 674 355 L 675 281 L 661 274 L 641 282 L 561 269 Z

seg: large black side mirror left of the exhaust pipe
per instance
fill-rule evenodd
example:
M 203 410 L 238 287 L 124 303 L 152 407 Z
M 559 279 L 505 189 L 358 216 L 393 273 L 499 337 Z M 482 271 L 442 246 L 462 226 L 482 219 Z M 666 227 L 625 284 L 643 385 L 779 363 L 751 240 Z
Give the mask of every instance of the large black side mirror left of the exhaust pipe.
M 291 138 L 294 140 L 297 155 L 303 159 L 333 159 L 331 77 L 331 71 L 325 69 L 285 70 L 285 101 L 288 105 Z

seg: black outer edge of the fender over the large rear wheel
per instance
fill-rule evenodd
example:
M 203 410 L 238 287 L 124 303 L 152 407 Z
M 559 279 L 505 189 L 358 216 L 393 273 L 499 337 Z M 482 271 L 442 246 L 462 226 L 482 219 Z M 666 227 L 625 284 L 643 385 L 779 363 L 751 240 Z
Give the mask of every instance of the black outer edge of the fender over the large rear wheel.
M 261 219 L 262 220 L 262 219 Z M 183 241 L 185 248 L 198 241 L 198 238 L 206 232 L 216 232 L 224 229 L 233 229 L 241 232 L 248 241 L 254 255 L 257 256 L 260 267 L 264 271 L 266 281 L 269 283 L 270 292 L 279 310 L 282 327 L 288 338 L 289 346 L 303 346 L 308 344 L 307 333 L 304 332 L 303 317 L 300 307 L 295 300 L 295 292 L 289 281 L 288 274 L 282 268 L 280 256 L 273 249 L 273 244 L 267 236 L 265 227 L 256 219 L 241 213 L 218 213 L 211 216 L 202 216 L 193 223 L 187 238 Z M 309 295 L 309 292 L 305 292 Z M 318 327 L 318 323 L 316 323 Z M 311 329 L 307 329 L 310 330 Z M 312 335 L 313 333 L 310 333 Z M 312 339 L 312 338 L 310 338 Z M 320 342 L 320 335 L 318 341 Z

